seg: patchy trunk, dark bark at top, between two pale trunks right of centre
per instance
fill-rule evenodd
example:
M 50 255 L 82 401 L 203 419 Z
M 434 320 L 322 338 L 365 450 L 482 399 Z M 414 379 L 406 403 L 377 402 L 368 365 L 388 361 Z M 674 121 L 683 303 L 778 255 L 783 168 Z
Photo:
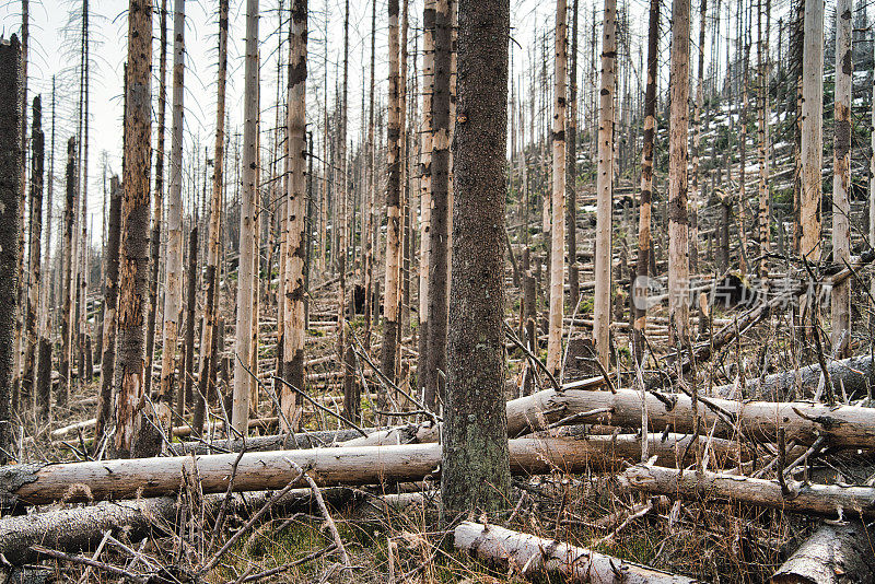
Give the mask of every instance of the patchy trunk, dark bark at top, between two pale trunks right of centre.
M 641 363 L 644 359 L 644 331 L 648 326 L 648 278 L 651 250 L 651 200 L 653 198 L 653 145 L 656 136 L 656 67 L 660 50 L 660 0 L 650 0 L 648 25 L 648 84 L 644 90 L 644 147 L 641 154 L 641 194 L 638 218 L 637 278 L 632 285 L 632 352 Z

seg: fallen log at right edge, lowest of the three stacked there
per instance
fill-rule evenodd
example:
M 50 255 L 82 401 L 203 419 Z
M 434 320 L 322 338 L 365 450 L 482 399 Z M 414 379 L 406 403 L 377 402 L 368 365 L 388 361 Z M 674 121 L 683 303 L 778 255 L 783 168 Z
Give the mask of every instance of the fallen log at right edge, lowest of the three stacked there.
M 786 480 L 789 492 L 777 481 L 721 472 L 681 474 L 674 468 L 637 465 L 620 475 L 623 486 L 676 499 L 721 499 L 757 506 L 780 509 L 836 518 L 875 517 L 875 488 L 835 484 L 805 484 Z

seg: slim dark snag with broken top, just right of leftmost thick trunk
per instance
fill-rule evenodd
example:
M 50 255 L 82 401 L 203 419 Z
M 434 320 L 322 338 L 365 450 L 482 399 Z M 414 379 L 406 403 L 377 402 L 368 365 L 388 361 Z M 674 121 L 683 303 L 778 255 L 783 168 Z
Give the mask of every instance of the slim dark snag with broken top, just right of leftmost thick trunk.
M 27 311 L 24 315 L 24 369 L 22 370 L 21 402 L 23 412 L 33 407 L 36 382 L 36 351 L 39 343 L 37 330 L 37 308 L 40 294 L 40 240 L 43 237 L 43 175 L 45 170 L 45 136 L 43 133 L 43 101 L 37 95 L 33 101 L 31 121 L 31 192 L 30 192 L 30 249 L 27 287 Z

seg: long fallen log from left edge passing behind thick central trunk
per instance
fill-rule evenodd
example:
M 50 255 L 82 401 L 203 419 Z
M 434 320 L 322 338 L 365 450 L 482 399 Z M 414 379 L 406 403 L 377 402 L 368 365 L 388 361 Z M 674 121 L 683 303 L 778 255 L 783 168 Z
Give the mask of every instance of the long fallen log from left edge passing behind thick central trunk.
M 661 434 L 653 434 L 649 440 L 650 452 L 669 465 L 688 452 L 691 437 L 669 434 L 663 441 Z M 734 456 L 732 444 L 712 444 L 715 448 L 720 445 L 726 456 Z M 510 451 L 511 468 L 517 474 L 618 470 L 621 460 L 641 457 L 635 435 L 535 436 L 510 441 Z M 161 497 L 176 492 L 186 472 L 199 477 L 203 493 L 224 492 L 237 456 L 231 453 L 0 467 L 0 500 L 36 505 L 61 500 Z M 322 486 L 407 482 L 436 476 L 441 446 L 409 444 L 244 453 L 237 462 L 233 490 L 283 488 L 296 476 L 290 462 L 310 469 Z

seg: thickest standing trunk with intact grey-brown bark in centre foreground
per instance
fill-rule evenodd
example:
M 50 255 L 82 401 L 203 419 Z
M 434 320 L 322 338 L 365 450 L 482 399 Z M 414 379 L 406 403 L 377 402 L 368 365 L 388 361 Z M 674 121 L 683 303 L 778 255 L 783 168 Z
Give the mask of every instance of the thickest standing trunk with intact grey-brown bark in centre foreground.
M 441 492 L 447 510 L 480 513 L 506 506 L 511 487 L 502 328 L 510 1 L 463 0 L 458 17 L 460 117 L 453 150 L 454 249 Z M 564 174 L 564 149 L 556 162 Z M 564 184 L 561 188 L 564 198 Z M 560 257 L 562 244 L 560 238 Z

